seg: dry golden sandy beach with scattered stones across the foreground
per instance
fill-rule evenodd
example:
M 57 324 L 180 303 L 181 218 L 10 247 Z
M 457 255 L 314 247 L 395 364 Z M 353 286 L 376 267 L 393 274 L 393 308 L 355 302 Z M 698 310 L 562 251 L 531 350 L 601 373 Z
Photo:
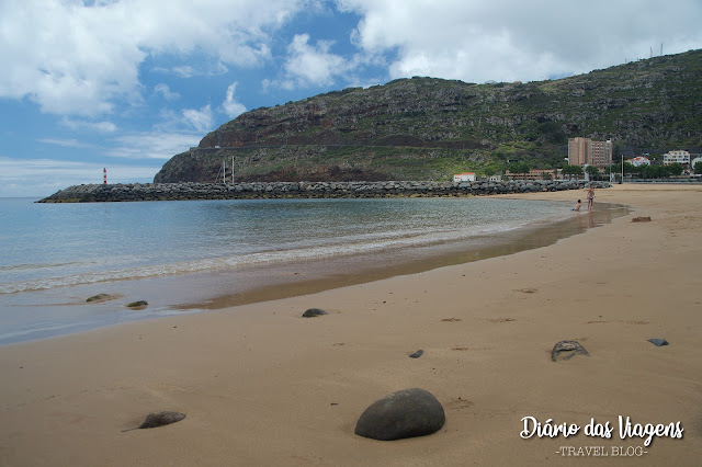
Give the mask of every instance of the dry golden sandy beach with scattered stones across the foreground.
M 633 213 L 511 255 L 0 346 L 0 465 L 699 465 L 702 186 L 596 196 Z M 329 315 L 302 318 L 312 307 Z M 552 362 L 562 340 L 590 356 Z M 354 434 L 411 387 L 443 405 L 439 432 Z M 123 432 L 161 410 L 186 418 Z M 683 437 L 622 440 L 619 415 Z M 525 417 L 581 430 L 522 438 Z M 586 435 L 591 419 L 611 438 Z

